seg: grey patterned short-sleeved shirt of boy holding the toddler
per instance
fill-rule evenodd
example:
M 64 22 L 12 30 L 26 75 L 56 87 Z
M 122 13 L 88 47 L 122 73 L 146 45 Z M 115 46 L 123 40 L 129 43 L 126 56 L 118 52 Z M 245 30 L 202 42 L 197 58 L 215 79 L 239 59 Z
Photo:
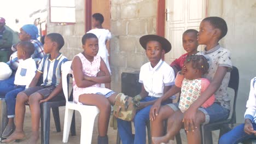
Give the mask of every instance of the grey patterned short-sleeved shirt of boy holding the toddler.
M 213 80 L 218 67 L 228 67 L 228 73 L 226 73 L 219 89 L 215 92 L 215 98 L 216 102 L 230 110 L 230 97 L 227 92 L 230 79 L 230 71 L 232 70 L 230 51 L 223 49 L 223 47 L 220 47 L 220 45 L 217 45 L 211 50 L 203 51 L 202 54 L 207 58 L 210 65 L 208 74 L 205 74 L 204 76 L 206 79 L 210 80 L 210 82 Z

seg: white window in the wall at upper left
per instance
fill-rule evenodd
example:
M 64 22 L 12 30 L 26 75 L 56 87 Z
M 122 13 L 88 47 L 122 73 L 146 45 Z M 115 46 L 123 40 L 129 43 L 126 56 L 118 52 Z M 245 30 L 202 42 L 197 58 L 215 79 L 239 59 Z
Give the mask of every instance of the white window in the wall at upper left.
M 75 23 L 75 0 L 50 0 L 50 22 Z

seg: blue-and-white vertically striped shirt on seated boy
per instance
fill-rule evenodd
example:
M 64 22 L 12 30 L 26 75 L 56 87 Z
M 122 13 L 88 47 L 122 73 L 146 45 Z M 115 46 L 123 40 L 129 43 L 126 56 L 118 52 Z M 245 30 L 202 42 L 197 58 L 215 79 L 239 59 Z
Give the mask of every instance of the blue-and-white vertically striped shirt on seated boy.
M 45 56 L 37 71 L 43 74 L 44 86 L 57 86 L 61 80 L 61 65 L 68 59 L 61 53 L 56 59 L 50 60 L 50 55 Z

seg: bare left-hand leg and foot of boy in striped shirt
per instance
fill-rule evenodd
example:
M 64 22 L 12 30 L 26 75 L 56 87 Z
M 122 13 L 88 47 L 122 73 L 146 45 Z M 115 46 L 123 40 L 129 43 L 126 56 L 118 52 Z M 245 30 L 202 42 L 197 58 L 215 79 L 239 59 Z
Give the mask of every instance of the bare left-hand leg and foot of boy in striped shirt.
M 16 128 L 13 134 L 11 134 L 6 140 L 2 142 L 11 142 L 13 140 L 23 139 L 25 137 L 25 133 L 23 131 L 24 124 L 24 116 L 25 116 L 25 103 L 28 101 L 28 96 L 24 92 L 20 92 L 16 98 L 16 106 L 15 106 L 15 121 Z

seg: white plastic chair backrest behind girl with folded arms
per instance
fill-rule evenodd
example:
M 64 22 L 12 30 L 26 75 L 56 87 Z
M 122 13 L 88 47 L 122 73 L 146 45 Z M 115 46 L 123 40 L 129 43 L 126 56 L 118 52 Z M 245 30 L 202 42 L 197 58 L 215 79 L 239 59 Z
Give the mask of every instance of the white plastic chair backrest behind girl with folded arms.
M 72 64 L 72 61 L 67 61 L 61 66 L 62 89 L 63 89 L 63 93 L 65 95 L 66 101 L 68 101 L 68 81 L 69 81 L 68 76 L 72 74 L 71 64 Z

